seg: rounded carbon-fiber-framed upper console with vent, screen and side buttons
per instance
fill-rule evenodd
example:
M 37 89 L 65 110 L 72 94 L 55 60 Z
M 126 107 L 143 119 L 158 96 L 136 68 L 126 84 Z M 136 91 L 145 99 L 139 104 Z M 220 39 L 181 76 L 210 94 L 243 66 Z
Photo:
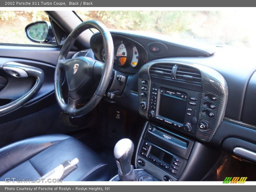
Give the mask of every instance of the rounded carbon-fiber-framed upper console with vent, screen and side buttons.
M 139 72 L 140 115 L 196 139 L 208 142 L 223 121 L 228 86 L 212 68 L 155 60 Z

